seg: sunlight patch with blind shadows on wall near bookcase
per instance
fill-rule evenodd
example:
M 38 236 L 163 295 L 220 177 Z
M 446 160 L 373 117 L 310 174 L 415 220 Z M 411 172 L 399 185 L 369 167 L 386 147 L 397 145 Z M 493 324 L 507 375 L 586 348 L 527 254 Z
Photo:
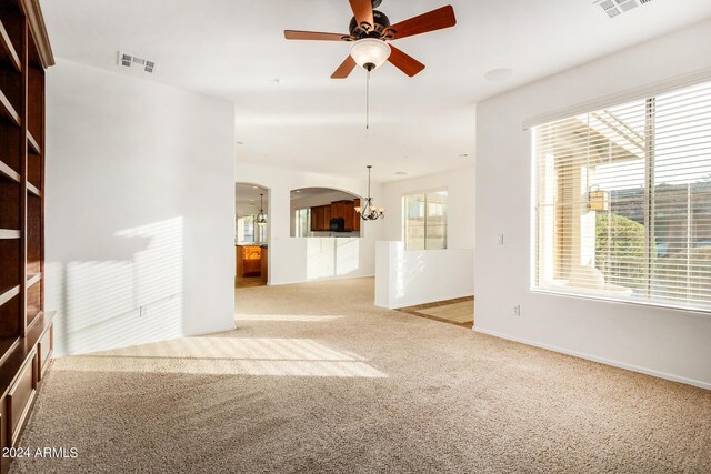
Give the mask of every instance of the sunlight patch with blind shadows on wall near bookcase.
M 183 335 L 183 218 L 113 235 L 111 249 L 46 264 L 59 356 Z

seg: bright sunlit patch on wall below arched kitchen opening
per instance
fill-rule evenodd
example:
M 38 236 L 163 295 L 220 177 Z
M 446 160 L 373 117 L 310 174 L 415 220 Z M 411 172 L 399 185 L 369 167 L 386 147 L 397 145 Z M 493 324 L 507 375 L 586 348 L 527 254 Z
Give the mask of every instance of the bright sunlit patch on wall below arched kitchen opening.
M 347 276 L 360 268 L 360 239 L 311 238 L 307 242 L 307 280 Z

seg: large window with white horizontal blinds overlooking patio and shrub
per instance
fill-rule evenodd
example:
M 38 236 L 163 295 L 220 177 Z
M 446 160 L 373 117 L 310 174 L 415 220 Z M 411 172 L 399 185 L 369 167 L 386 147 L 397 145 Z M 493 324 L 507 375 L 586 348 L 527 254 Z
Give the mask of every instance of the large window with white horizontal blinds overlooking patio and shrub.
M 534 289 L 711 311 L 711 83 L 533 140 Z

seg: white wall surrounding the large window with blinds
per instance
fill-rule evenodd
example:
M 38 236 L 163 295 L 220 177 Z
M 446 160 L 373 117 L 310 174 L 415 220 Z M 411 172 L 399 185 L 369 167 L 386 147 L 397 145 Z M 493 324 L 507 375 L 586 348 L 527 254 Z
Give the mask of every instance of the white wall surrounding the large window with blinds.
M 704 22 L 478 105 L 475 331 L 711 389 L 709 314 L 530 292 L 531 142 L 522 130 L 531 117 L 710 68 L 709 38 Z

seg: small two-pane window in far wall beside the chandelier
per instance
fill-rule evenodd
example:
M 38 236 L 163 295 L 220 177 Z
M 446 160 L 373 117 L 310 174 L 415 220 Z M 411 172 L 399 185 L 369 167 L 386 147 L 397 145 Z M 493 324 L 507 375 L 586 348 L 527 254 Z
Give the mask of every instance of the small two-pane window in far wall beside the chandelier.
M 402 198 L 405 250 L 447 249 L 447 195 L 444 190 Z

